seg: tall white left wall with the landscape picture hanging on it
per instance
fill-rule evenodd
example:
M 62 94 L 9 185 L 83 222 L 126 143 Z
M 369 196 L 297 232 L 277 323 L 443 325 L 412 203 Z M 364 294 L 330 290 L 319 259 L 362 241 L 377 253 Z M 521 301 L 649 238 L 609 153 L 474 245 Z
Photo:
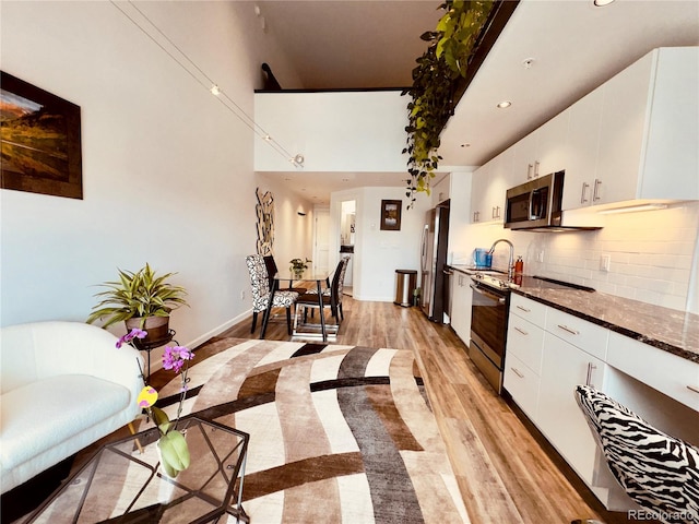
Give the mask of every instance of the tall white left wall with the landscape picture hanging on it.
M 298 84 L 252 2 L 135 5 L 248 115 L 262 61 Z M 3 1 L 1 24 L 2 70 L 81 106 L 84 183 L 83 200 L 0 191 L 1 324 L 82 321 L 93 285 L 146 261 L 190 291 L 173 319 L 180 343 L 241 318 L 256 241 L 250 128 L 110 2 Z

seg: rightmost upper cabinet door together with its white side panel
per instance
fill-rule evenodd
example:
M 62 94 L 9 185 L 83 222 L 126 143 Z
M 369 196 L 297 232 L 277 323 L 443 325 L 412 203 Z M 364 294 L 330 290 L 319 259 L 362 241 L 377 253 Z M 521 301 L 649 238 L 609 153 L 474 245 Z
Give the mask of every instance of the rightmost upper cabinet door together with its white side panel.
M 597 201 L 699 199 L 699 48 L 651 51 L 603 85 Z

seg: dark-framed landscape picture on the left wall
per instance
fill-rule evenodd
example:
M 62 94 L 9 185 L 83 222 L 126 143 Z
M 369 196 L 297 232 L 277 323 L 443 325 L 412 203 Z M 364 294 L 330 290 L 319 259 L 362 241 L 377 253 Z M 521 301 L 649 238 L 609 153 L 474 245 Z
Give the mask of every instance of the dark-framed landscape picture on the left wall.
M 80 106 L 0 71 L 0 187 L 83 198 Z

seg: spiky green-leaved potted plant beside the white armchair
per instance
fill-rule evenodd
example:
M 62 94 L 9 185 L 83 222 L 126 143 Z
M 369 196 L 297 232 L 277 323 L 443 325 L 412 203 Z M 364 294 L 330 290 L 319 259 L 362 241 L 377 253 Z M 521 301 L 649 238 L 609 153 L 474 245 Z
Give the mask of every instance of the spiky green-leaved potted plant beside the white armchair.
M 144 342 L 165 338 L 170 311 L 187 305 L 185 288 L 167 282 L 176 273 L 157 275 L 147 263 L 137 272 L 118 271 L 119 281 L 105 282 L 102 286 L 107 289 L 95 295 L 100 301 L 93 307 L 87 323 L 102 319 L 103 327 L 108 327 L 123 321 L 127 332 L 147 331 Z

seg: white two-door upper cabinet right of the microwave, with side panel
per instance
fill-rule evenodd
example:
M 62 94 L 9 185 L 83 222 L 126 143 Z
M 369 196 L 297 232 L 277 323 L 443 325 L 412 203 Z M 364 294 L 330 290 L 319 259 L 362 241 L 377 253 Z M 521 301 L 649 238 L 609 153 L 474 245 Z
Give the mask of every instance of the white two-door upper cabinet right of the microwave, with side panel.
M 699 199 L 699 48 L 651 51 L 569 108 L 564 209 Z

